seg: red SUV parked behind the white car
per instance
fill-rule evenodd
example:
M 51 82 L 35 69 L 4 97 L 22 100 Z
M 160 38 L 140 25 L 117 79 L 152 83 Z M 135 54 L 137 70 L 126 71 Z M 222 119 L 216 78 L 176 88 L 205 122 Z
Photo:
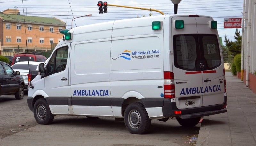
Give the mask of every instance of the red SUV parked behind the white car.
M 17 52 L 17 54 L 13 57 L 12 65 L 21 61 L 45 62 L 46 60 L 47 58 L 40 52 Z

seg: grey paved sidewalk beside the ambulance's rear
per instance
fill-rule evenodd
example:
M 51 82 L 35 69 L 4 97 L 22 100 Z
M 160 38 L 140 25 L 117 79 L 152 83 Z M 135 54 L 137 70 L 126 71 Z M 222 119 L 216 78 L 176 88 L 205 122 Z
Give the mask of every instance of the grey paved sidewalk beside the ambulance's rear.
M 196 146 L 255 146 L 256 95 L 226 72 L 227 113 L 206 116 Z

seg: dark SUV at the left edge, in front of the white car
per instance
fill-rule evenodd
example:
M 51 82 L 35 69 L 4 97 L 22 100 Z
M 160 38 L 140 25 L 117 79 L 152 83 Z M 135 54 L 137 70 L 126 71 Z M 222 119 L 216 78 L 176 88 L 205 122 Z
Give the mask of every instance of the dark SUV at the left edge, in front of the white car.
M 0 95 L 14 94 L 16 99 L 24 97 L 24 81 L 19 71 L 0 61 Z

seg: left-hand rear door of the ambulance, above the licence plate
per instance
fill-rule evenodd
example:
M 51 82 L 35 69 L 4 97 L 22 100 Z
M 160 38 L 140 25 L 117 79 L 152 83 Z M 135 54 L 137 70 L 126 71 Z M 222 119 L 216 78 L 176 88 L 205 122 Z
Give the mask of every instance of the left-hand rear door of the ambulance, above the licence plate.
M 184 28 L 175 28 L 175 21 L 184 21 Z M 176 23 L 176 25 L 178 24 Z M 178 109 L 203 106 L 203 77 L 200 68 L 201 52 L 195 17 L 176 16 L 172 27 L 173 63 L 176 106 Z

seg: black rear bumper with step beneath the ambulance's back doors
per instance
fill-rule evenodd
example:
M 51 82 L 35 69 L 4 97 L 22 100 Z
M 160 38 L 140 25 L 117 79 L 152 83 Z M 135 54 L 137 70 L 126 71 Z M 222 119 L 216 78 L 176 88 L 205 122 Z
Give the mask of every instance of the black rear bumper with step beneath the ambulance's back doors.
M 189 109 L 178 109 L 175 102 L 170 102 L 170 99 L 164 99 L 164 106 L 162 107 L 163 116 L 164 117 L 180 117 L 182 119 L 187 118 L 196 118 L 203 116 L 210 116 L 214 114 L 227 112 L 224 109 L 227 105 L 227 96 L 224 96 L 224 103 L 211 105 L 211 106 L 203 106 Z M 181 111 L 181 114 L 175 114 L 175 111 Z

